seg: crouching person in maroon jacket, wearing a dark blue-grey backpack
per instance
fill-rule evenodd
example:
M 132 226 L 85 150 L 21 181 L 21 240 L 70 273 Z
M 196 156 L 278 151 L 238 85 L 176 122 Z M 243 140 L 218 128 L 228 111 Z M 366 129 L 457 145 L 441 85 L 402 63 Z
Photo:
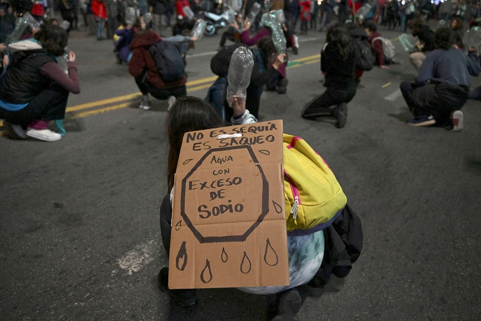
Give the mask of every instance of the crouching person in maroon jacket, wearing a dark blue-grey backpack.
M 179 80 L 165 83 L 157 72 L 149 47 L 159 41 L 162 41 L 162 38 L 152 30 L 145 30 L 144 25 L 130 43 L 132 58 L 129 62 L 129 73 L 135 77 L 135 83 L 142 92 L 139 108 L 145 110 L 151 107 L 149 93 L 157 99 L 167 99 L 169 106 L 175 102 L 175 97 L 187 94 L 185 75 Z

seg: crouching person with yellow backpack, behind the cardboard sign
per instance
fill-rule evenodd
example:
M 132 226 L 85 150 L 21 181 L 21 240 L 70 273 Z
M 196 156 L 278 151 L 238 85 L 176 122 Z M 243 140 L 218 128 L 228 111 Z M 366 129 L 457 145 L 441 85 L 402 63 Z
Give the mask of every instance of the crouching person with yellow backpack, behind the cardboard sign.
M 234 124 L 257 122 L 257 119 L 249 113 L 249 110 L 246 110 L 245 101 L 238 101 L 237 98 L 234 98 L 232 107 L 234 115 L 231 121 Z M 167 255 L 170 252 L 174 175 L 177 170 L 183 136 L 186 132 L 221 126 L 223 126 L 223 123 L 213 107 L 195 97 L 179 98 L 168 112 L 167 131 L 170 150 L 167 183 L 170 193 L 164 197 L 160 207 L 162 242 Z M 322 287 L 329 280 L 331 273 L 339 277 L 346 276 L 351 269 L 351 264 L 359 257 L 361 252 L 362 231 L 359 218 L 346 205 L 346 198 L 323 159 L 310 148 L 312 152 L 302 151 L 300 147 L 308 150 L 306 148 L 308 145 L 300 137 L 284 135 L 283 140 L 290 282 L 289 285 L 285 286 L 242 287 L 238 289 L 255 294 L 277 294 L 277 304 L 275 305 L 275 314 L 272 319 L 296 320 L 297 313 L 302 305 L 298 287 L 303 284 Z M 306 153 L 304 162 L 309 162 L 306 160 L 309 157 L 316 158 L 319 166 L 324 168 L 324 181 L 329 182 L 325 186 L 326 188 L 310 186 L 311 193 L 309 193 L 305 187 L 303 188 L 303 186 L 299 185 L 299 176 L 303 174 L 299 174 L 300 171 L 296 170 L 295 167 L 302 166 L 302 162 L 299 162 L 299 159 L 294 161 L 293 159 L 298 158 L 303 153 Z M 297 164 L 293 165 L 293 163 Z M 306 174 L 304 175 L 315 177 L 316 174 L 312 174 L 310 171 L 305 168 Z M 288 175 L 288 173 L 291 173 L 291 175 Z M 201 186 L 202 182 L 198 186 L 192 186 L 192 188 L 200 188 Z M 337 191 L 337 194 L 325 202 L 332 205 L 329 211 L 324 211 L 330 213 L 329 217 L 324 219 L 324 221 L 319 221 L 318 217 L 316 217 L 317 214 L 313 214 L 313 209 L 310 209 L 315 207 L 306 206 L 310 204 L 310 199 L 308 200 L 306 197 L 312 198 L 312 195 L 309 194 L 314 192 L 323 194 L 327 190 Z M 316 205 L 324 206 L 319 203 Z M 323 209 L 325 208 L 323 207 Z M 336 244 L 329 251 L 324 250 L 325 238 L 329 240 L 326 244 Z M 334 238 L 337 238 L 339 242 L 331 242 L 331 239 Z M 333 253 L 337 253 L 337 255 L 333 256 Z M 178 304 L 184 307 L 197 304 L 195 289 L 169 289 L 168 277 L 169 269 L 167 267 L 162 268 L 159 272 L 159 287 L 162 292 L 170 295 Z

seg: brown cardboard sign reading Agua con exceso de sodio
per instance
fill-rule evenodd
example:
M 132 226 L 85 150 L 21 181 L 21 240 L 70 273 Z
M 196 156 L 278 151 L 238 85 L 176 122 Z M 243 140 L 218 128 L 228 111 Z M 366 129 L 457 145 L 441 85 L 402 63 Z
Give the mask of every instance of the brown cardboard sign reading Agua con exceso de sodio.
M 289 284 L 282 132 L 276 120 L 184 135 L 169 288 Z

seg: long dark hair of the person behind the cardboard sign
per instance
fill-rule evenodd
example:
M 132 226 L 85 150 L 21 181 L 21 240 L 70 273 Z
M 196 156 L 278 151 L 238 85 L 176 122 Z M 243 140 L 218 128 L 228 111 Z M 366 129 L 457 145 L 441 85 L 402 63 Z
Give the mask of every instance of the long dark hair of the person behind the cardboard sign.
M 200 98 L 187 96 L 177 98 L 166 119 L 169 136 L 168 191 L 174 186 L 180 146 L 184 134 L 188 131 L 216 128 L 223 125 L 215 109 Z

